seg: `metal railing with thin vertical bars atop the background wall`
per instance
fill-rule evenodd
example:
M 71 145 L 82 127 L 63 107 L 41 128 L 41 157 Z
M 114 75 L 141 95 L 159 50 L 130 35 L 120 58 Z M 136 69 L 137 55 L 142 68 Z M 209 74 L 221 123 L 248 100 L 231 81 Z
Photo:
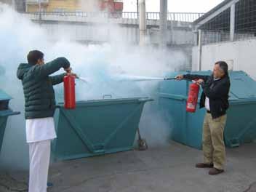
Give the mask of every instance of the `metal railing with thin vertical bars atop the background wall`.
M 30 15 L 56 15 L 56 16 L 72 16 L 72 17 L 100 17 L 100 18 L 123 18 L 123 19 L 135 19 L 138 18 L 137 12 L 21 12 L 23 14 Z M 169 12 L 167 14 L 167 20 L 180 21 L 180 22 L 193 22 L 204 13 L 195 12 Z M 147 12 L 147 20 L 159 20 L 159 12 Z

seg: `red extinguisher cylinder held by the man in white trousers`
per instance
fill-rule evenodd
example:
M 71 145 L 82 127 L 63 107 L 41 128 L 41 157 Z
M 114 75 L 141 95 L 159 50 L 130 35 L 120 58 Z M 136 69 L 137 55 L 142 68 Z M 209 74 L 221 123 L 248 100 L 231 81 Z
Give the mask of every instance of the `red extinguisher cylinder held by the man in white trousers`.
M 76 108 L 76 91 L 75 91 L 76 76 L 64 76 L 64 108 Z

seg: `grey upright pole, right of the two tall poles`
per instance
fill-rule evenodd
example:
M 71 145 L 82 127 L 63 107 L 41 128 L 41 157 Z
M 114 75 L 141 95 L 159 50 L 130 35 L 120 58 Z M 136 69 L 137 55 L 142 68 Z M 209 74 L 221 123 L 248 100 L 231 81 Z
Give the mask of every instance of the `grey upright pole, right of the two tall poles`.
M 167 47 L 167 0 L 160 0 L 160 46 Z

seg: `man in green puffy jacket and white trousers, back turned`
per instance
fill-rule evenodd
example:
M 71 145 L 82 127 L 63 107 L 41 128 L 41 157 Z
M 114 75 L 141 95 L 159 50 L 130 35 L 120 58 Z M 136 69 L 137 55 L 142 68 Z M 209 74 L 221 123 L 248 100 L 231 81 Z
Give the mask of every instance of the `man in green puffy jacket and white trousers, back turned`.
M 66 73 L 49 76 L 63 68 Z M 70 63 L 59 57 L 44 64 L 44 54 L 38 50 L 28 53 L 28 63 L 17 68 L 25 96 L 26 139 L 29 145 L 29 192 L 47 192 L 50 142 L 55 139 L 55 92 L 53 86 L 63 82 L 71 73 Z

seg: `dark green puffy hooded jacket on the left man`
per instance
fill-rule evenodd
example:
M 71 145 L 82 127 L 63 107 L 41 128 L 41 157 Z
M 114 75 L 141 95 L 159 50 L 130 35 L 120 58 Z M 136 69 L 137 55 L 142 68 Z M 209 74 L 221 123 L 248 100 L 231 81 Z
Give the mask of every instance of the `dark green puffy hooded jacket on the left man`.
M 25 96 L 25 119 L 52 117 L 55 113 L 55 91 L 53 85 L 63 82 L 65 73 L 49 76 L 60 68 L 69 68 L 65 57 L 59 57 L 44 65 L 21 63 L 17 78 L 22 80 Z

